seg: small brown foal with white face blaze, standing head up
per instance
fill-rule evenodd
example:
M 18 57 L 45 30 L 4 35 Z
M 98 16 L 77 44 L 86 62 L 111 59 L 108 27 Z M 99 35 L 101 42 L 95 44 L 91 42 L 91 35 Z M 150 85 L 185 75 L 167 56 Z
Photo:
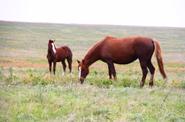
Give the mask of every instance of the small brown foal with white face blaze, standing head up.
M 67 59 L 69 71 L 72 70 L 72 52 L 69 47 L 62 46 L 56 48 L 54 40 L 48 41 L 48 54 L 47 59 L 49 63 L 49 71 L 51 73 L 52 63 L 53 63 L 53 73 L 55 74 L 56 62 L 61 62 L 63 65 L 64 73 L 66 71 L 65 59 Z

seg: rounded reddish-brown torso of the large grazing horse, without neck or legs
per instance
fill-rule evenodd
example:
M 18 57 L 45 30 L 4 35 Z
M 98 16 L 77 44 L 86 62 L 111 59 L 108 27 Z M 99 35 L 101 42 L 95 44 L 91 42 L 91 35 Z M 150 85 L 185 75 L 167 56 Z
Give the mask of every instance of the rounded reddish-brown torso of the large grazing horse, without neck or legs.
M 143 54 L 153 54 L 152 39 L 146 37 L 105 38 L 101 43 L 101 58 L 127 64 Z

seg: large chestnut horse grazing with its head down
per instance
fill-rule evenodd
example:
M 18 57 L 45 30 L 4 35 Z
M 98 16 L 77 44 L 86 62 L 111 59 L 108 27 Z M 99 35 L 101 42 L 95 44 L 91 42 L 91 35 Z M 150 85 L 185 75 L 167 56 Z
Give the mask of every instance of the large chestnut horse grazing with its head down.
M 79 80 L 81 83 L 84 82 L 84 79 L 89 73 L 89 66 L 97 60 L 101 60 L 107 63 L 109 78 L 112 79 L 113 76 L 114 79 L 116 79 L 114 63 L 128 64 L 135 61 L 136 59 L 139 59 L 143 74 L 140 87 L 144 86 L 148 73 L 147 68 L 151 73 L 149 85 L 153 86 L 155 67 L 151 62 L 151 58 L 154 50 L 160 73 L 162 74 L 163 78 L 166 79 L 167 76 L 163 68 L 161 48 L 158 41 L 147 37 L 136 36 L 120 39 L 114 37 L 106 37 L 102 41 L 97 42 L 92 48 L 90 48 L 85 58 L 81 62 L 78 61 Z

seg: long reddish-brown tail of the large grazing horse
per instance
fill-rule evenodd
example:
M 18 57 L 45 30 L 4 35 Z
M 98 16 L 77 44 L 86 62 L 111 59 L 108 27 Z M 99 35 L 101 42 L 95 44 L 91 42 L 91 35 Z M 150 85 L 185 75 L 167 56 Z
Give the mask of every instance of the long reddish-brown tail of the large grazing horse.
M 161 47 L 158 41 L 154 41 L 154 46 L 155 46 L 155 56 L 157 59 L 157 64 L 159 67 L 159 71 L 161 73 L 161 75 L 163 76 L 164 79 L 167 78 L 166 73 L 164 71 L 164 65 L 163 65 L 163 58 L 162 58 L 162 54 L 161 54 Z

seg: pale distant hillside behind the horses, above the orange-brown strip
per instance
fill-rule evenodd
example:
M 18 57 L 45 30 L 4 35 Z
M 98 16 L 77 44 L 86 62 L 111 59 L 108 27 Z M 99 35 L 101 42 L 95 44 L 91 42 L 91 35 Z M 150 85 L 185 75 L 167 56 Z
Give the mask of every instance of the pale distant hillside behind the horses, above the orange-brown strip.
M 105 36 L 143 35 L 161 42 L 166 60 L 185 60 L 185 28 L 0 21 L 0 57 L 45 58 L 48 39 L 69 45 L 75 58 Z M 6 52 L 6 53 L 5 53 Z

